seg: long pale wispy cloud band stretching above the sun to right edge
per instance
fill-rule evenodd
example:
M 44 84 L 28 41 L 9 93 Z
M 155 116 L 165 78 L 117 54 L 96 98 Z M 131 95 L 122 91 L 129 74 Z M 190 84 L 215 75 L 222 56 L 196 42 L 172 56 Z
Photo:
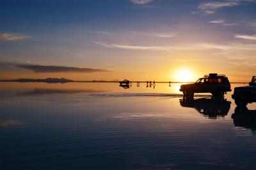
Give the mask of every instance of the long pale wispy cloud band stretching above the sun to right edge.
M 127 45 L 121 43 L 106 43 L 96 42 L 102 47 L 111 49 L 124 49 L 124 50 L 144 50 L 144 51 L 208 51 L 214 57 L 227 58 L 228 64 L 237 66 L 256 66 L 256 44 L 255 43 L 195 43 L 190 45 L 173 45 L 173 46 L 144 46 L 144 45 Z M 237 59 L 240 58 L 240 59 Z

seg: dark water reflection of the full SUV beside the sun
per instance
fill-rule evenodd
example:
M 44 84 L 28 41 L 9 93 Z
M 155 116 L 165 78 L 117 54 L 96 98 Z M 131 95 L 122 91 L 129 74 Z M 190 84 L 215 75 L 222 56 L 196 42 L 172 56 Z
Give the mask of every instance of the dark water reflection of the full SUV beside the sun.
M 201 114 L 214 119 L 227 116 L 230 104 L 231 102 L 224 98 L 180 99 L 180 105 L 182 107 L 195 108 Z

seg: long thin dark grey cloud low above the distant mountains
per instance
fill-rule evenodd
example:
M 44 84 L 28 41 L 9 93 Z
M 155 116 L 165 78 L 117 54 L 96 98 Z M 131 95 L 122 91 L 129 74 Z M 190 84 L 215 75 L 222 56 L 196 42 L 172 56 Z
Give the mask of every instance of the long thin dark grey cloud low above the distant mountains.
M 69 66 L 44 66 L 44 65 L 16 65 L 19 68 L 26 68 L 36 73 L 57 73 L 57 72 L 81 72 L 81 73 L 94 73 L 94 72 L 110 72 L 109 70 L 94 69 L 94 68 L 77 68 Z

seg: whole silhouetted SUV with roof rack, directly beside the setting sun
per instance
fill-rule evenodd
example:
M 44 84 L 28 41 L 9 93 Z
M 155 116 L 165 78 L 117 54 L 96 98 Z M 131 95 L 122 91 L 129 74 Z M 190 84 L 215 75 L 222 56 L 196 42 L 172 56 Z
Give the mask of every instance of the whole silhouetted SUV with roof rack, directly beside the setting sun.
M 223 97 L 231 89 L 228 77 L 218 73 L 209 73 L 193 84 L 182 84 L 180 91 L 186 98 L 193 98 L 194 93 L 212 93 L 214 97 Z

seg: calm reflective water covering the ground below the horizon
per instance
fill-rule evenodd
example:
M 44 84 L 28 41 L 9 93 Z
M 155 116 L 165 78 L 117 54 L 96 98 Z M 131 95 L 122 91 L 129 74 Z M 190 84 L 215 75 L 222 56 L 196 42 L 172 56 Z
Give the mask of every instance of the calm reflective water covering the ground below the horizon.
M 0 86 L 0 169 L 256 169 L 256 104 L 236 108 L 232 92 L 187 102 L 180 84 Z

